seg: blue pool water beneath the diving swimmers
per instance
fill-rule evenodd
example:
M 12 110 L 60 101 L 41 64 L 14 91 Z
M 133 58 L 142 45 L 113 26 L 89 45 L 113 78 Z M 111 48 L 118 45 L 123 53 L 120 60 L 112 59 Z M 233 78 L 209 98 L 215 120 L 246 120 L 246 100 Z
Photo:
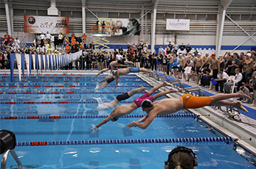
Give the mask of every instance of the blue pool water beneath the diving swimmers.
M 59 79 L 62 77 L 62 79 Z M 91 112 L 97 108 L 97 99 L 109 102 L 120 93 L 149 84 L 142 82 L 136 76 L 125 76 L 120 79 L 120 87 L 108 86 L 102 90 L 95 90 L 97 82 L 104 78 L 99 76 L 55 76 L 52 81 L 63 82 L 1 82 L 0 103 L 1 117 L 30 115 L 108 115 L 112 109 Z M 80 79 L 76 79 L 80 77 Z M 1 79 L 1 78 L 0 78 Z M 46 81 L 45 76 L 44 81 Z M 7 78 L 2 81 L 8 81 Z M 31 80 L 31 79 L 26 79 Z M 38 81 L 40 76 L 38 76 Z M 47 79 L 49 80 L 49 78 Z M 72 81 L 72 82 L 71 82 Z M 74 82 L 79 81 L 79 82 Z M 83 81 L 83 82 L 80 82 Z M 84 82 L 86 81 L 86 82 Z M 15 85 L 17 87 L 10 87 Z M 28 85 L 29 87 L 21 87 Z M 52 87 L 34 87 L 34 85 L 52 85 Z M 55 87 L 64 85 L 64 87 Z M 75 85 L 76 87 L 68 87 Z M 87 86 L 87 87 L 85 87 Z M 31 92 L 30 94 L 23 94 Z M 38 93 L 39 92 L 39 93 Z M 58 92 L 58 94 L 52 94 Z M 72 93 L 70 93 L 72 92 Z M 15 94 L 14 94 L 15 93 Z M 69 93 L 69 94 L 67 94 Z M 129 104 L 138 93 L 128 98 Z M 165 97 L 162 97 L 165 98 Z M 161 98 L 159 98 L 161 99 Z M 15 104 L 5 104 L 6 102 Z M 24 101 L 34 101 L 34 104 L 24 104 Z M 52 101 L 53 104 L 42 104 Z M 59 104 L 68 101 L 69 104 Z M 75 103 L 76 102 L 76 103 Z M 71 104 L 70 104 L 71 103 Z M 189 112 L 176 112 L 188 114 Z M 133 115 L 145 115 L 142 109 L 136 109 Z M 60 119 L 1 119 L 1 129 L 13 131 L 18 143 L 44 141 L 73 141 L 73 140 L 141 140 L 141 139 L 169 139 L 193 137 L 221 137 L 222 135 L 197 118 L 155 118 L 148 129 L 131 128 L 125 125 L 139 118 L 120 118 L 117 122 L 108 122 L 97 131 L 91 128 L 104 118 L 60 118 Z M 18 157 L 26 168 L 164 168 L 168 153 L 176 147 L 184 145 L 192 148 L 198 154 L 197 168 L 255 168 L 250 162 L 233 150 L 234 143 L 200 142 L 200 143 L 122 143 L 95 145 L 45 145 L 45 146 L 17 146 Z M 8 158 L 8 168 L 16 168 L 15 161 Z

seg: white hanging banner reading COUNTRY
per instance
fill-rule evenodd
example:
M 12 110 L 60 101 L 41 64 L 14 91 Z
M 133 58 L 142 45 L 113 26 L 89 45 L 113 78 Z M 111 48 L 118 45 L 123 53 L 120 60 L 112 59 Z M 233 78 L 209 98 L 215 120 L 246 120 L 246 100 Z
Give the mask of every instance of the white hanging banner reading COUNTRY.
M 190 19 L 167 19 L 166 20 L 167 30 L 179 30 L 189 31 L 190 30 Z

